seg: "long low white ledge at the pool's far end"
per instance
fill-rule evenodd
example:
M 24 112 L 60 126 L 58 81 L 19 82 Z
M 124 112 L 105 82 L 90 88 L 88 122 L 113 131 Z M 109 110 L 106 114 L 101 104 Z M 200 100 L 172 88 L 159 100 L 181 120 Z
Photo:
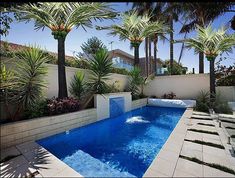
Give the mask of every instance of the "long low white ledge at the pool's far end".
M 176 99 L 148 99 L 150 106 L 174 107 L 174 108 L 191 108 L 196 105 L 195 100 L 176 100 Z

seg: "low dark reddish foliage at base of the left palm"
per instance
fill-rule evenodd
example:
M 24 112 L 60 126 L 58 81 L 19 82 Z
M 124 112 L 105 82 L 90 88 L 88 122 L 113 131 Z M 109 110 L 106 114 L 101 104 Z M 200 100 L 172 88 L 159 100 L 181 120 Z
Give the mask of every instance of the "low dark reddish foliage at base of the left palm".
M 62 113 L 74 112 L 79 110 L 79 101 L 74 98 L 52 98 L 47 100 L 48 115 L 57 115 Z

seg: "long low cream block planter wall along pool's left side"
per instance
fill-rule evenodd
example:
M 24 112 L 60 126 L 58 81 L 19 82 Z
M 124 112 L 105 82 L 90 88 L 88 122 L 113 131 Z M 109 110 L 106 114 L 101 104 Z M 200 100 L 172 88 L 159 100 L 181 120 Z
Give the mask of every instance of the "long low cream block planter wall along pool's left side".
M 1 149 L 35 141 L 97 121 L 96 109 L 23 120 L 1 125 Z

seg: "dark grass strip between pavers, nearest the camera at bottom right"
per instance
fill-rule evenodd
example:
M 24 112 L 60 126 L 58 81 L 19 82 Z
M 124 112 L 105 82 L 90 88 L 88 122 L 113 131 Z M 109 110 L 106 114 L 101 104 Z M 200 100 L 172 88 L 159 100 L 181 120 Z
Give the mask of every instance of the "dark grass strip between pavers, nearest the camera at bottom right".
M 224 171 L 224 172 L 228 172 L 230 174 L 233 174 L 235 175 L 235 171 L 233 169 L 230 169 L 226 166 L 222 166 L 220 164 L 215 164 L 215 163 L 206 163 L 204 161 L 201 161 L 195 157 L 193 158 L 190 158 L 190 157 L 187 157 L 187 156 L 183 156 L 183 155 L 179 155 L 180 158 L 183 158 L 183 159 L 186 159 L 186 160 L 189 160 L 189 161 L 193 161 L 193 162 L 196 162 L 198 164 L 202 164 L 202 165 L 205 165 L 205 166 L 209 166 L 209 167 L 212 167 L 212 168 L 215 168 L 215 169 L 219 169 L 221 171 Z

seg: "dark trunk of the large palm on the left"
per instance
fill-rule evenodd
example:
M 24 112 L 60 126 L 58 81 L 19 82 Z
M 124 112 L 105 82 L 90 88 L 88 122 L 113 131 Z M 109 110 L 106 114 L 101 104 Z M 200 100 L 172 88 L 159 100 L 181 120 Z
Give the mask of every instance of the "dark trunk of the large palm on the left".
M 66 74 L 65 74 L 65 39 L 58 39 L 58 82 L 59 82 L 59 98 L 68 97 Z

